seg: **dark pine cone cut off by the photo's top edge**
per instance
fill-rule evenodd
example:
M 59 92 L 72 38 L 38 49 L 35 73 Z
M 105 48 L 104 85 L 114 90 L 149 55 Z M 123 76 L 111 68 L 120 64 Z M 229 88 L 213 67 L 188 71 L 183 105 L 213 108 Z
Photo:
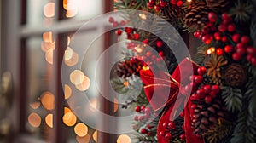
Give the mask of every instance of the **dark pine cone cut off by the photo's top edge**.
M 215 11 L 224 11 L 225 8 L 230 4 L 229 0 L 206 0 L 207 7 Z

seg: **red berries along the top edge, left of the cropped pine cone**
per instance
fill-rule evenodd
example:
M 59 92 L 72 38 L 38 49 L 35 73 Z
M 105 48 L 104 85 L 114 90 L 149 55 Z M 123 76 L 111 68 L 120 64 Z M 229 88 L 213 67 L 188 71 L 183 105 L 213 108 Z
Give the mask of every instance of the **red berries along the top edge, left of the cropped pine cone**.
M 163 7 L 170 3 L 172 5 L 177 5 L 178 7 L 183 6 L 182 0 L 149 0 L 147 3 L 148 9 L 154 9 L 156 12 L 159 12 Z

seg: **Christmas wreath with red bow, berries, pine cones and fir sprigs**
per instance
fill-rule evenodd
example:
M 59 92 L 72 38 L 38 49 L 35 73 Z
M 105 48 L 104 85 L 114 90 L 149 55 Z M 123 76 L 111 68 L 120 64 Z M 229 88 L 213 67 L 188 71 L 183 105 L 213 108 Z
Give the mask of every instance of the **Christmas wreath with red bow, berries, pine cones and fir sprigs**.
M 191 59 L 177 63 L 160 37 L 131 27 L 115 31 L 131 43 L 125 60 L 113 70 L 113 89 L 122 93 L 136 80 L 143 82 L 141 94 L 123 105 L 137 112 L 138 142 L 256 142 L 255 0 L 118 0 L 114 6 L 157 14 L 181 35 L 193 33 L 190 41 L 201 43 Z M 110 17 L 109 22 L 114 27 L 136 20 Z M 154 27 L 160 31 L 164 26 L 156 21 Z M 153 47 L 159 56 L 133 41 Z M 158 70 L 160 60 L 168 73 Z M 188 65 L 193 70 L 186 70 Z

